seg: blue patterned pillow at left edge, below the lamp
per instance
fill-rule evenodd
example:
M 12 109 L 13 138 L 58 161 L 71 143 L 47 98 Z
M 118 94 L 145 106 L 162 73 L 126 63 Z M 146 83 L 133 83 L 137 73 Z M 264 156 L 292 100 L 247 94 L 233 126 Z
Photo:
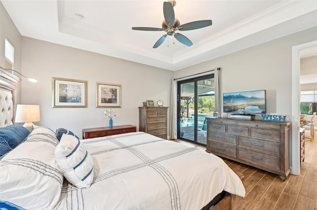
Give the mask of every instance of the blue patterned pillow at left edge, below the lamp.
M 0 127 L 0 156 L 14 149 L 29 133 L 30 131 L 21 125 Z

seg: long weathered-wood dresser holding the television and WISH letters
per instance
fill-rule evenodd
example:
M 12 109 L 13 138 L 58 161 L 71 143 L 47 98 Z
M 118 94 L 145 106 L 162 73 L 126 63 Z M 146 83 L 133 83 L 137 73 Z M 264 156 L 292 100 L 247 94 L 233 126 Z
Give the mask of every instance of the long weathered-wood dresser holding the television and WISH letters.
M 208 118 L 207 124 L 207 152 L 287 178 L 291 123 Z

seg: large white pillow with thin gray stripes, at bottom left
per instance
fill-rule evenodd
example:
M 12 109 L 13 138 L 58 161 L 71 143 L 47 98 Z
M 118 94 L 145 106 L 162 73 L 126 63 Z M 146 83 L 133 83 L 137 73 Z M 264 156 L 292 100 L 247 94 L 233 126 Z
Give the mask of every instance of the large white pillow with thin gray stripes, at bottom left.
M 63 174 L 55 160 L 55 133 L 37 127 L 0 161 L 0 207 L 53 210 L 59 205 Z M 19 209 L 18 208 L 18 209 Z

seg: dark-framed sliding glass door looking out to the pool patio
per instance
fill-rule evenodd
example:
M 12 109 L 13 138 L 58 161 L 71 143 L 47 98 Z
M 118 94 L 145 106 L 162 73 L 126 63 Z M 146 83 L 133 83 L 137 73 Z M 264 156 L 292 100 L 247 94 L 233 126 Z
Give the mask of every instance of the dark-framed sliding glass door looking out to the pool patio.
M 178 82 L 177 98 L 178 138 L 206 145 L 206 118 L 215 108 L 213 74 Z

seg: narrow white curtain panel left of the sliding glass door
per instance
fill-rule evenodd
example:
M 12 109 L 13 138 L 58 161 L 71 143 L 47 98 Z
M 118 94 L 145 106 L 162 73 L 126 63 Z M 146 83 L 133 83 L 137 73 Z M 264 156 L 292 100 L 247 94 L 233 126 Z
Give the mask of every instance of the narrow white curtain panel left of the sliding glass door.
M 172 79 L 171 94 L 170 94 L 170 139 L 177 139 L 177 81 Z

